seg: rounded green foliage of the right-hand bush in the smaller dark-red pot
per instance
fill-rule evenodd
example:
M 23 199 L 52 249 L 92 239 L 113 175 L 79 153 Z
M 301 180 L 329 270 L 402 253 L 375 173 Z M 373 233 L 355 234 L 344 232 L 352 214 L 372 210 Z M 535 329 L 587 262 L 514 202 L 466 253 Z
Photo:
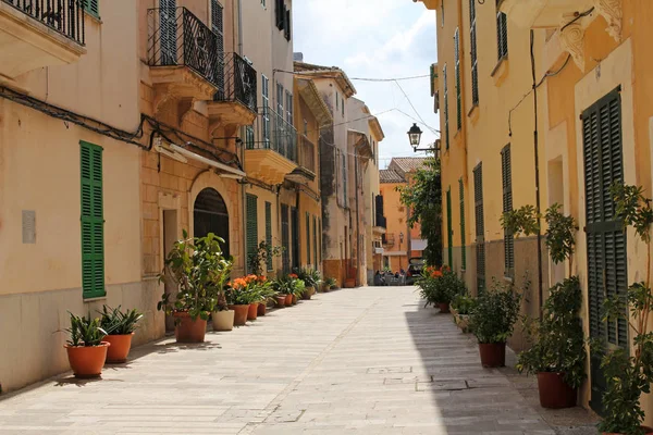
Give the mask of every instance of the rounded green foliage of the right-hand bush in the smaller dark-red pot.
M 480 344 L 505 343 L 513 335 L 519 316 L 521 295 L 513 286 L 503 286 L 496 279 L 492 288 L 478 298 L 469 318 L 469 326 Z

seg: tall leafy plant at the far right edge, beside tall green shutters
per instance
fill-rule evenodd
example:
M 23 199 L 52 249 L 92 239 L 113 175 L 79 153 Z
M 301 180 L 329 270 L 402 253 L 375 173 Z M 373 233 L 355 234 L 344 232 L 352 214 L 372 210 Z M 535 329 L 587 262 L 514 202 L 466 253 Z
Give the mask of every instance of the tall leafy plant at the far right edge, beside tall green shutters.
M 599 349 L 603 355 L 601 368 L 605 375 L 603 395 L 604 420 L 599 424 L 604 434 L 640 435 L 653 433 L 642 426 L 645 412 L 640 397 L 651 393 L 653 382 L 653 332 L 651 331 L 651 199 L 641 187 L 617 184 L 612 189 L 616 215 L 624 228 L 631 226 L 646 249 L 646 279 L 632 284 L 625 295 L 615 289 L 614 297 L 604 301 L 604 322 L 623 319 L 632 337 L 631 349 L 618 347 Z M 630 315 L 628 315 L 630 313 Z M 597 350 L 594 348 L 593 350 Z

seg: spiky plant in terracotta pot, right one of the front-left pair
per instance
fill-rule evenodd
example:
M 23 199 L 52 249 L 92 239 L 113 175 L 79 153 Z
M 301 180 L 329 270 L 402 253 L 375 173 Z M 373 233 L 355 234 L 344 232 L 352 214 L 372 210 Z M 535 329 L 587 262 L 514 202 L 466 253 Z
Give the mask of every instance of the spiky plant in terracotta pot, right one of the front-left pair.
M 107 333 L 103 340 L 110 344 L 107 349 L 107 362 L 123 363 L 130 355 L 132 337 L 137 323 L 143 319 L 143 313 L 136 309 L 122 312 L 120 306 L 114 309 L 102 306 L 100 314 L 100 327 Z

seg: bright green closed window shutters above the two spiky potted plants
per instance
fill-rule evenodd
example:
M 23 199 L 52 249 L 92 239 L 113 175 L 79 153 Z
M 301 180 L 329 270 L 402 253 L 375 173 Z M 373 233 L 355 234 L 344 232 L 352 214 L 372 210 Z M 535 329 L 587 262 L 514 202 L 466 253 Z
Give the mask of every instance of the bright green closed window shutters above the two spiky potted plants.
M 85 298 L 104 296 L 104 212 L 102 148 L 79 142 L 82 185 L 82 290 Z

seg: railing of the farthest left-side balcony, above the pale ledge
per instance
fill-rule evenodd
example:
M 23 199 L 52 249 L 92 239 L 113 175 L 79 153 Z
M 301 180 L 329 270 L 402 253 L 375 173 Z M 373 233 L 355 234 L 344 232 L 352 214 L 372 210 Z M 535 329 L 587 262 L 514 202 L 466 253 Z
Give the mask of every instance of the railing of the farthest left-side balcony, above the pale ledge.
M 247 149 L 271 149 L 297 163 L 297 129 L 283 115 L 264 105 L 256 120 L 254 140 Z

